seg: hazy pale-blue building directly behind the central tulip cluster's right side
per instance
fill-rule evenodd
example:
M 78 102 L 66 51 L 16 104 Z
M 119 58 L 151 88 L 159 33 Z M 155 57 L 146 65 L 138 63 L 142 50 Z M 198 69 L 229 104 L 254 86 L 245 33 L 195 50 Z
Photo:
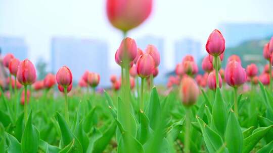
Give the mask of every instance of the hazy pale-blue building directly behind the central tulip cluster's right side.
M 167 67 L 165 64 L 165 53 L 164 53 L 164 39 L 160 37 L 155 36 L 144 36 L 139 39 L 136 39 L 136 45 L 138 45 L 138 48 L 141 48 L 143 51 L 145 51 L 147 45 L 154 45 L 156 46 L 159 54 L 160 54 L 160 64 L 158 66 L 159 68 L 159 74 L 157 78 L 155 79 L 156 84 L 163 84 L 165 83 L 165 73 L 167 73 Z

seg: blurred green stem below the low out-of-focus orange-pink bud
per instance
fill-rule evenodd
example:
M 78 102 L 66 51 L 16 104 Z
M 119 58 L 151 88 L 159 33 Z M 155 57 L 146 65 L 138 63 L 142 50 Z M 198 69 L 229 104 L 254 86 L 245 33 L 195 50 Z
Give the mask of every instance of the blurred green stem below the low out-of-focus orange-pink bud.
M 185 133 L 185 152 L 190 153 L 190 131 L 191 131 L 191 108 L 186 107 L 186 133 Z

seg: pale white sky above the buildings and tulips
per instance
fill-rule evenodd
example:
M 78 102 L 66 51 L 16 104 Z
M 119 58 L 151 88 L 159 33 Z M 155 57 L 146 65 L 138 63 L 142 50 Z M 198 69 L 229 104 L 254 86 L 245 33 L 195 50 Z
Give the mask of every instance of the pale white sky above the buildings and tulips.
M 121 33 L 107 20 L 105 0 L 0 0 L 0 35 L 24 37 L 29 58 L 50 61 L 54 36 L 106 40 L 114 52 Z M 271 0 L 154 0 L 150 18 L 129 36 L 154 35 L 165 39 L 167 63 L 172 63 L 175 40 L 191 37 L 205 44 L 219 23 L 273 23 Z M 172 64 L 168 64 L 171 67 Z

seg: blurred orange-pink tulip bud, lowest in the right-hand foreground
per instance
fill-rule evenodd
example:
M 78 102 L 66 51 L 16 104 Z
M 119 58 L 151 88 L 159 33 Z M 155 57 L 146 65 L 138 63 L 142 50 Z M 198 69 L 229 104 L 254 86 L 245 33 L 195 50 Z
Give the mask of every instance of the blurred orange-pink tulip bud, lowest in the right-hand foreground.
M 186 77 L 181 82 L 180 93 L 183 105 L 189 107 L 196 103 L 199 95 L 199 89 L 196 82 L 192 78 Z

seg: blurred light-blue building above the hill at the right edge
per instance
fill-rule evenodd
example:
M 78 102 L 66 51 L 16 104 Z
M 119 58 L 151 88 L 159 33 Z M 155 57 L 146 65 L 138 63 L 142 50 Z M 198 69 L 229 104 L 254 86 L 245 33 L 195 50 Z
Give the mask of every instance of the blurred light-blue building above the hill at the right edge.
M 225 38 L 226 48 L 235 47 L 249 40 L 260 40 L 273 36 L 273 24 L 223 23 L 219 30 Z

